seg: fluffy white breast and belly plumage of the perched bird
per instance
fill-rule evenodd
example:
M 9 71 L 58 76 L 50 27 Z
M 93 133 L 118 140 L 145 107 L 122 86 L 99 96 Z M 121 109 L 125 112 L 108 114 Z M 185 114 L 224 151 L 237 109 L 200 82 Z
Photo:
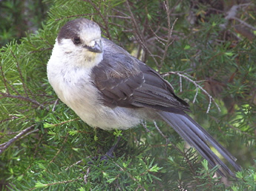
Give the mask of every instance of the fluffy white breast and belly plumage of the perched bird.
M 102 53 L 77 47 L 70 39 L 56 40 L 47 63 L 47 77 L 59 98 L 92 127 L 122 129 L 140 124 L 141 116 L 130 108 L 104 106 L 99 90 L 91 82 L 91 68 L 102 60 Z

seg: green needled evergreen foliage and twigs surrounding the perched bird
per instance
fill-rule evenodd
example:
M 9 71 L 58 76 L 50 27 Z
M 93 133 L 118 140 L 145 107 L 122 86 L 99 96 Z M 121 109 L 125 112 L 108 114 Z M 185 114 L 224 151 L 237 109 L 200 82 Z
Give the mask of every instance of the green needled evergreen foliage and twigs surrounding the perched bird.
M 207 2 L 44 1 L 41 29 L 0 51 L 0 190 L 255 190 L 256 5 Z M 81 16 L 171 82 L 243 167 L 236 180 L 163 122 L 106 132 L 57 99 L 46 64 L 59 28 Z

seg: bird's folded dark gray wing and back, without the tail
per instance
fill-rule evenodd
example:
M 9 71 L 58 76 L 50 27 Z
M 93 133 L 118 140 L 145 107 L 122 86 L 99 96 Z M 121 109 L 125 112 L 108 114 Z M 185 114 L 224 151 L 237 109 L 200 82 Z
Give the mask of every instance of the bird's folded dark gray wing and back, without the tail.
M 151 107 L 173 113 L 189 111 L 156 71 L 104 39 L 103 60 L 92 70 L 95 86 L 108 107 Z

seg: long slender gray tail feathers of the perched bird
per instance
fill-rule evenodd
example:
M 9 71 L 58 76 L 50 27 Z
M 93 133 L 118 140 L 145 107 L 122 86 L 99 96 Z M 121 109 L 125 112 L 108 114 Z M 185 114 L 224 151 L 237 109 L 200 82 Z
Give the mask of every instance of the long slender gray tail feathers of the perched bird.
M 219 164 L 228 175 L 234 177 L 234 173 L 211 151 L 206 141 L 223 155 L 223 157 L 232 164 L 235 170 L 239 171 L 241 169 L 241 167 L 235 163 L 236 158 L 234 158 L 234 156 L 232 156 L 221 144 L 215 141 L 203 127 L 200 127 L 200 125 L 186 113 L 177 114 L 160 111 L 158 114 L 165 122 L 171 125 L 171 127 L 173 127 L 174 130 L 191 145 L 191 147 L 194 147 L 204 158 L 206 158 L 211 167 L 215 167 Z M 220 175 L 224 175 L 220 170 L 218 170 L 218 172 Z

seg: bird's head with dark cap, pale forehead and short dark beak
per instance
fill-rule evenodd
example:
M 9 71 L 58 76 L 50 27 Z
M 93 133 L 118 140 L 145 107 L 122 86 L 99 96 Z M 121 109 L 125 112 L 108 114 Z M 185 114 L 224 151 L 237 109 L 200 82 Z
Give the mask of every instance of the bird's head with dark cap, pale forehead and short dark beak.
M 74 57 L 77 63 L 92 66 L 102 60 L 102 37 L 99 25 L 80 18 L 68 21 L 59 31 L 56 43 L 66 56 Z

